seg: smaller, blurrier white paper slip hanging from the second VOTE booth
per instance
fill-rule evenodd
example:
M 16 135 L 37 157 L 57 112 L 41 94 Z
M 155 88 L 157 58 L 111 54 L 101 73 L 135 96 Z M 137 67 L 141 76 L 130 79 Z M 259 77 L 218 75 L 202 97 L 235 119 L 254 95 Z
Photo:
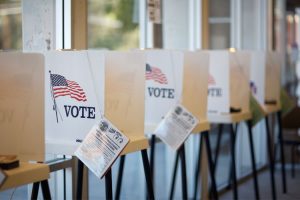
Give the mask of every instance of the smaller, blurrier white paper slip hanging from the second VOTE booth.
M 192 113 L 177 104 L 159 123 L 154 134 L 172 149 L 177 150 L 198 123 L 199 120 Z

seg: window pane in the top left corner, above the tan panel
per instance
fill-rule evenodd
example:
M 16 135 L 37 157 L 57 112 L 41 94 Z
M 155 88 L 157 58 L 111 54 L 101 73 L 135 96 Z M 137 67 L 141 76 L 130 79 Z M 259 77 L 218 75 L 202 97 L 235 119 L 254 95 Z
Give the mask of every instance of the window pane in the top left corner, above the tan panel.
M 21 48 L 21 0 L 0 0 L 0 49 Z

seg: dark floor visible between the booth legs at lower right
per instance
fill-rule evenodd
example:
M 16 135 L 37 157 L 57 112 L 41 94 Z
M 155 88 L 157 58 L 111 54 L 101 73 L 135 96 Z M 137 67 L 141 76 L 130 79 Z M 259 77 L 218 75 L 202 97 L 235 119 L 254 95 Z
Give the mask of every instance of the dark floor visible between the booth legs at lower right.
M 275 173 L 277 199 L 278 200 L 296 200 L 300 199 L 300 164 L 296 166 L 296 177 L 291 177 L 290 165 L 287 165 L 287 193 L 282 193 L 282 181 L 279 166 L 276 168 Z M 272 199 L 271 185 L 270 185 L 270 172 L 265 170 L 259 174 L 259 192 L 262 200 Z M 247 180 L 245 183 L 239 185 L 238 197 L 242 200 L 255 199 L 253 189 L 253 179 Z M 225 192 L 220 196 L 221 200 L 232 199 L 232 190 Z

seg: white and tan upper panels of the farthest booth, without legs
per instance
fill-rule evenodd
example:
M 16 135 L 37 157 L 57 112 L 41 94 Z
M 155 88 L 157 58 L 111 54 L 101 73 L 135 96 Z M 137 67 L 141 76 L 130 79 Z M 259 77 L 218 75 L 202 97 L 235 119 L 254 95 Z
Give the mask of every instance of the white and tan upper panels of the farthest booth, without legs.
M 278 52 L 251 52 L 250 87 L 261 105 L 280 104 L 280 63 Z

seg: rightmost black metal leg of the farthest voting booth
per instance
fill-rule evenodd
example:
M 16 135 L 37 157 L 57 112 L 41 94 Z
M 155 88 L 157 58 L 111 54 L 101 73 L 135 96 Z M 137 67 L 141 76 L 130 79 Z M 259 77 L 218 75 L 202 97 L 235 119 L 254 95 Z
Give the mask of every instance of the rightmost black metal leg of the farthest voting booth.
M 280 145 L 280 161 L 281 161 L 281 178 L 282 178 L 282 190 L 283 193 L 287 192 L 286 189 L 286 176 L 285 176 L 285 156 L 284 156 L 284 147 L 283 147 L 283 136 L 282 136 L 282 127 L 281 127 L 281 111 L 277 112 L 277 121 L 278 121 L 278 137 Z

